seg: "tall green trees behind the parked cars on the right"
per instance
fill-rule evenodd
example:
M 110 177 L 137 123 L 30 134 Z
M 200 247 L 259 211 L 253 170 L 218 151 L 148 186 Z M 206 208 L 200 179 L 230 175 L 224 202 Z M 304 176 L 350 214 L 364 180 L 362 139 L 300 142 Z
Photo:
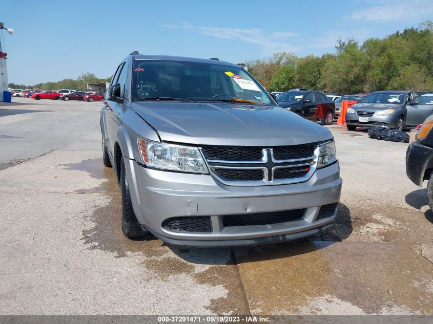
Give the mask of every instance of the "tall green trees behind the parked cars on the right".
M 306 88 L 330 93 L 381 90 L 433 91 L 433 23 L 359 44 L 337 40 L 335 54 L 298 57 L 275 53 L 246 62 L 268 91 Z

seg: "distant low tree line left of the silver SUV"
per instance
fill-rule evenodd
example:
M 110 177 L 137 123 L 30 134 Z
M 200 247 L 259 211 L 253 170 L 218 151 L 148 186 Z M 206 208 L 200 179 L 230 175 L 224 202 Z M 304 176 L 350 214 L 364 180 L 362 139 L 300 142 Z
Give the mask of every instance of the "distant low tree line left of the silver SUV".
M 64 79 L 57 82 L 37 83 L 34 85 L 9 83 L 9 88 L 41 89 L 41 90 L 59 90 L 59 89 L 87 90 L 87 83 L 99 83 L 99 82 L 110 82 L 110 81 L 111 81 L 111 76 L 105 79 L 99 79 L 93 73 L 87 72 L 81 74 L 76 80 Z

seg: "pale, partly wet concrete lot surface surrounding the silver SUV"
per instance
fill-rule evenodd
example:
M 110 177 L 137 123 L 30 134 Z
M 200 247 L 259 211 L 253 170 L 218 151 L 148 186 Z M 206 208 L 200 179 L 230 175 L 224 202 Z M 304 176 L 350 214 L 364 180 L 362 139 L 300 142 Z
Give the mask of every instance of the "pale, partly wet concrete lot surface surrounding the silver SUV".
M 128 240 L 101 160 L 100 102 L 0 102 L 0 314 L 433 314 L 433 215 L 407 144 L 329 127 L 336 226 L 185 249 Z

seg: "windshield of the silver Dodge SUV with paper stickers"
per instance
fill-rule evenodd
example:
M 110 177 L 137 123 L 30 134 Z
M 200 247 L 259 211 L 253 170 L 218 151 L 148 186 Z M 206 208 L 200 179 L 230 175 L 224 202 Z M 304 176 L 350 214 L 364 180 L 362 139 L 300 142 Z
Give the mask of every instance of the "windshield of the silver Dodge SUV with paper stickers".
M 132 99 L 248 100 L 271 104 L 258 82 L 241 67 L 221 64 L 136 60 Z M 236 101 L 235 100 L 235 101 Z

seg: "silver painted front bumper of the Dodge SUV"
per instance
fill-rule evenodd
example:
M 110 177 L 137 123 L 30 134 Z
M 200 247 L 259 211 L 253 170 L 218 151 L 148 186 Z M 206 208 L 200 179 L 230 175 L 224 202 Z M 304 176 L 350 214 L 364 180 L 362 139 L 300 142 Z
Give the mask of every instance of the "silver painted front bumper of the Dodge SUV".
M 316 170 L 310 180 L 302 183 L 226 186 L 210 175 L 159 171 L 124 159 L 139 223 L 171 244 L 251 245 L 312 235 L 335 219 L 334 211 L 316 221 L 320 207 L 340 200 L 338 162 Z M 278 224 L 224 226 L 221 216 L 292 209 L 303 209 L 302 218 Z M 194 216 L 209 216 L 212 232 L 172 231 L 162 226 L 169 218 Z

